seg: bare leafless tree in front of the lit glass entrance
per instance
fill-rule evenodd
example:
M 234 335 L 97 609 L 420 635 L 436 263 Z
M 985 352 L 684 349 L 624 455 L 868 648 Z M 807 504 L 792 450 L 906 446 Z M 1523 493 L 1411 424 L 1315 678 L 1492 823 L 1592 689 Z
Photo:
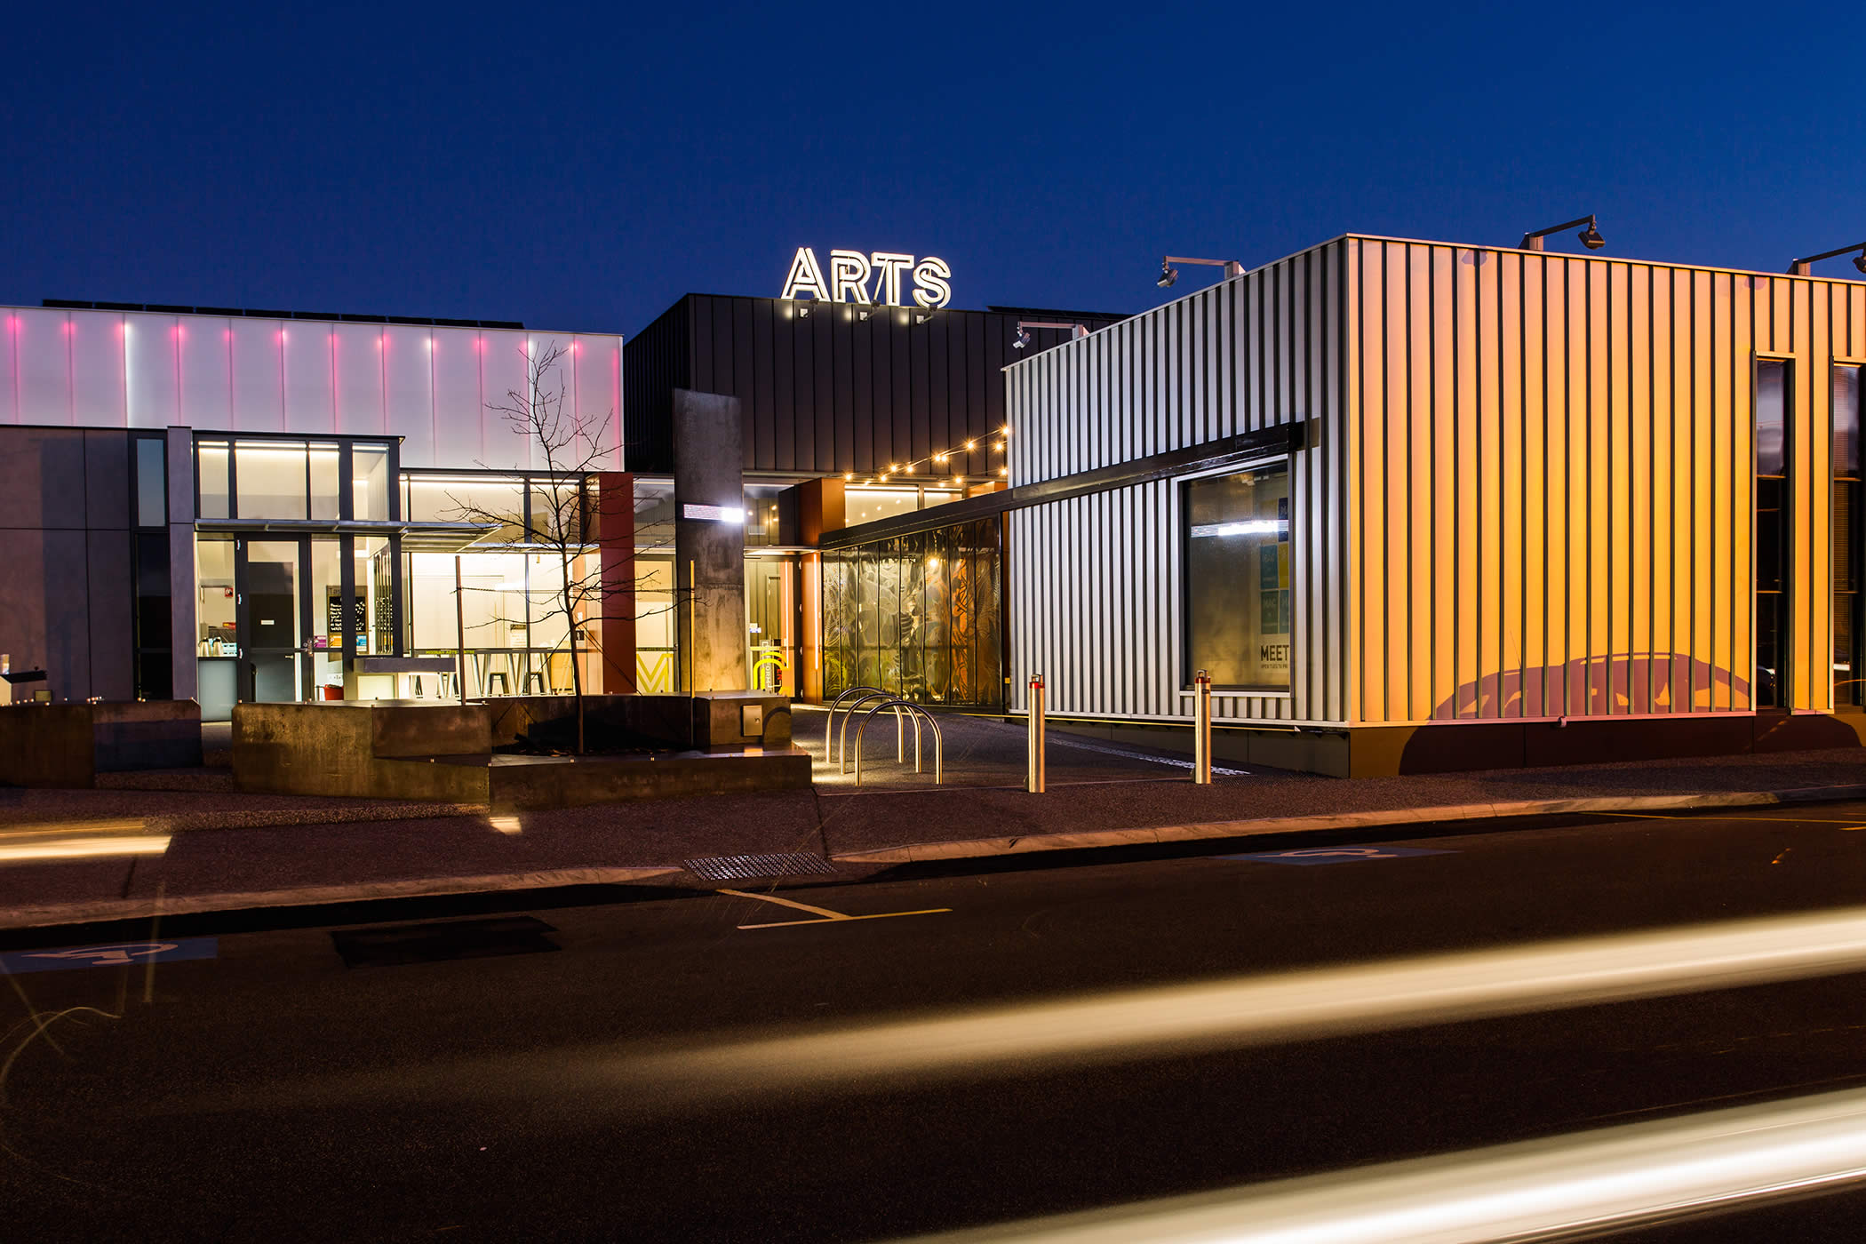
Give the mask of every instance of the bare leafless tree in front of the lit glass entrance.
M 524 351 L 521 351 L 524 352 Z M 590 651 L 584 642 L 584 627 L 610 617 L 605 604 L 618 595 L 614 586 L 614 567 L 610 584 L 605 584 L 603 567 L 588 558 L 592 550 L 590 533 L 584 532 L 586 517 L 601 522 L 597 505 L 590 498 L 590 476 L 608 470 L 614 442 L 608 427 L 614 410 L 601 420 L 584 418 L 575 405 L 565 407 L 565 386 L 560 371 L 565 349 L 552 341 L 543 349 L 524 352 L 524 392 L 511 390 L 500 403 L 487 403 L 487 410 L 498 414 L 513 433 L 524 436 L 537 459 L 543 459 L 543 479 L 530 481 L 530 520 L 522 543 L 530 552 L 549 556 L 558 567 L 558 584 L 545 591 L 526 589 L 526 599 L 534 612 L 530 621 L 564 619 L 565 643 L 571 662 L 571 694 L 577 701 L 577 753 L 586 750 L 584 735 L 584 677 L 582 653 Z M 483 466 L 483 463 L 481 463 Z M 461 522 L 487 526 L 509 526 L 511 517 L 485 509 L 472 500 L 459 500 L 450 494 L 453 511 Z M 633 498 L 629 498 L 633 505 Z M 634 550 L 629 550 L 631 561 Z M 633 582 L 633 574 L 631 574 Z M 539 610 L 541 606 L 541 610 Z M 666 606 L 666 608 L 672 608 Z M 631 614 L 636 617 L 636 614 Z M 466 636 L 461 636 L 461 647 Z M 549 673 L 549 660 L 547 673 Z

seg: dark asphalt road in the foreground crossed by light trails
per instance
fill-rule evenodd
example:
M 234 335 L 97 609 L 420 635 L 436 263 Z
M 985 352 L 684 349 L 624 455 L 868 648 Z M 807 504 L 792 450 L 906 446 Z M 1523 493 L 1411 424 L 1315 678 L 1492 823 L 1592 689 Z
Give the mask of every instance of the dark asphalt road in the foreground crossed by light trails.
M 547 929 L 478 946 L 373 931 L 485 912 L 384 906 L 341 946 L 196 919 L 166 936 L 202 957 L 153 970 L 43 959 L 121 931 L 15 938 L 0 1235 L 881 1240 L 1866 1085 L 1860 975 L 1071 1046 L 1054 1003 L 1110 990 L 1170 1026 L 1187 985 L 1866 903 L 1866 804 L 1472 828 L 774 895 L 864 919 L 640 897 L 513 910 Z M 922 1024 L 955 1013 L 1002 1028 Z M 1625 1238 L 1857 1240 L 1862 1207 Z

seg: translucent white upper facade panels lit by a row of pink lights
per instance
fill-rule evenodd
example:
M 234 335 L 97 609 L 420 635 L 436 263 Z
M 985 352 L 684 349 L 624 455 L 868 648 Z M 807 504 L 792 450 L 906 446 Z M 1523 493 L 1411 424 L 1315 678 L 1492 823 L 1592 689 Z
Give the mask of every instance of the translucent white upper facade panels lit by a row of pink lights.
M 366 321 L 0 310 L 0 422 L 399 436 L 407 468 L 537 470 L 487 410 L 526 388 L 526 349 L 565 351 L 564 414 L 620 466 L 621 338 Z

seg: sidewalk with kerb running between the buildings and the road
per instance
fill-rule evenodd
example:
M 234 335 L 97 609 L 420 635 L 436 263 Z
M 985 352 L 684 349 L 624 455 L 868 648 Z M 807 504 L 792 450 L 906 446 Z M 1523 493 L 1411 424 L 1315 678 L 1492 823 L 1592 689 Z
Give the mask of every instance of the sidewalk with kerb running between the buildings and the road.
M 810 720 L 799 722 L 801 742 L 821 752 L 821 718 L 815 729 Z M 1062 737 L 1049 793 L 1026 795 L 1017 727 L 944 724 L 954 781 L 942 787 L 898 772 L 890 729 L 890 759 L 873 770 L 896 770 L 883 785 L 856 789 L 819 763 L 814 793 L 519 817 L 386 800 L 0 789 L 0 927 L 573 884 L 698 890 L 720 882 L 689 862 L 737 854 L 808 852 L 847 880 L 1032 850 L 1866 796 L 1857 748 L 1353 781 L 1233 772 L 1194 787 L 1183 757 Z

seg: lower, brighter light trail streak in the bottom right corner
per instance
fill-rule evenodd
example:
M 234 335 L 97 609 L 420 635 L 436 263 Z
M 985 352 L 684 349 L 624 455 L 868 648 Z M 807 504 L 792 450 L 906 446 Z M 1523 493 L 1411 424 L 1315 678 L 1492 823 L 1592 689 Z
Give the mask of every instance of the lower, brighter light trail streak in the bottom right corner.
M 918 1244 L 1480 1244 L 1573 1238 L 1866 1177 L 1866 1089 L 1633 1123 Z

